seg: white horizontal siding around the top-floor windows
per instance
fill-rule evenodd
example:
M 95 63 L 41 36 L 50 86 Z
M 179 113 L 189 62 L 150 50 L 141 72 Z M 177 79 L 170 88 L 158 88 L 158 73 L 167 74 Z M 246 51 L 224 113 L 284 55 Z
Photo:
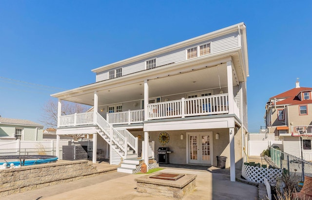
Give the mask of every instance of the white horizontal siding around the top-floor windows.
M 119 66 L 117 68 L 122 67 L 122 75 L 127 75 L 130 73 L 136 73 L 145 70 L 145 61 L 152 58 L 156 58 L 157 66 L 166 65 L 169 63 L 182 62 L 186 60 L 186 49 L 209 42 L 211 42 L 211 55 L 236 48 L 238 47 L 238 32 L 230 33 L 224 36 L 216 37 L 199 43 L 194 43 L 192 45 L 188 45 L 165 54 L 142 59 L 134 63 L 129 63 L 128 65 Z M 113 69 L 97 73 L 96 82 L 107 80 L 108 71 L 110 70 Z

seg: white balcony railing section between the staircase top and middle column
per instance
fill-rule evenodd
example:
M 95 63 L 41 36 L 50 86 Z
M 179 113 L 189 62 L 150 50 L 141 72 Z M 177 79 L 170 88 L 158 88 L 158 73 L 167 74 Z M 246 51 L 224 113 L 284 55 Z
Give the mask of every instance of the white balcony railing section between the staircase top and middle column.
M 144 109 L 107 113 L 106 116 L 107 122 L 115 125 L 142 123 L 144 118 Z

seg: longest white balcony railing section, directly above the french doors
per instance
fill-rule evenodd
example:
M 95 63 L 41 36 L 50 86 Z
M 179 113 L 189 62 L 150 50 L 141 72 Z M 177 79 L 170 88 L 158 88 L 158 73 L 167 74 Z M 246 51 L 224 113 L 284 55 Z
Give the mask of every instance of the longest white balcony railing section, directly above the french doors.
M 187 117 L 229 113 L 228 94 L 218 94 L 197 98 L 182 98 L 176 101 L 149 104 L 149 119 Z M 237 107 L 237 104 L 236 104 Z

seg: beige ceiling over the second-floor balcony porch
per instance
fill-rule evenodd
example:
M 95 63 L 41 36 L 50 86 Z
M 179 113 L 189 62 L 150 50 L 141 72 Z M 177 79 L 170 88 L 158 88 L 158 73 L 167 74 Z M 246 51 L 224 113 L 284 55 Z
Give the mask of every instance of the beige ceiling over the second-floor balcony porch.
M 150 98 L 227 87 L 227 67 L 226 64 L 221 64 L 191 72 L 159 74 L 159 77 L 153 76 L 153 79 L 149 79 L 148 85 Z M 233 85 L 236 85 L 235 78 Z M 137 79 L 136 83 L 124 86 L 96 90 L 98 91 L 98 106 L 140 100 L 144 99 L 144 79 Z M 62 99 L 93 106 L 94 91 L 84 92 L 86 91 L 77 92 L 75 95 Z

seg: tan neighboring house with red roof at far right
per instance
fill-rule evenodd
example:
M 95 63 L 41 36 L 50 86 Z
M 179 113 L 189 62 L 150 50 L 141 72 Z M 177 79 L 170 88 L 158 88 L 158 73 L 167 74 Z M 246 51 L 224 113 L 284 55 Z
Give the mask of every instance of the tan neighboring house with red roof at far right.
M 265 121 L 269 133 L 283 139 L 285 153 L 312 160 L 311 138 L 300 135 L 312 135 L 312 88 L 296 87 L 269 99 L 266 104 Z M 301 148 L 302 147 L 302 148 Z

